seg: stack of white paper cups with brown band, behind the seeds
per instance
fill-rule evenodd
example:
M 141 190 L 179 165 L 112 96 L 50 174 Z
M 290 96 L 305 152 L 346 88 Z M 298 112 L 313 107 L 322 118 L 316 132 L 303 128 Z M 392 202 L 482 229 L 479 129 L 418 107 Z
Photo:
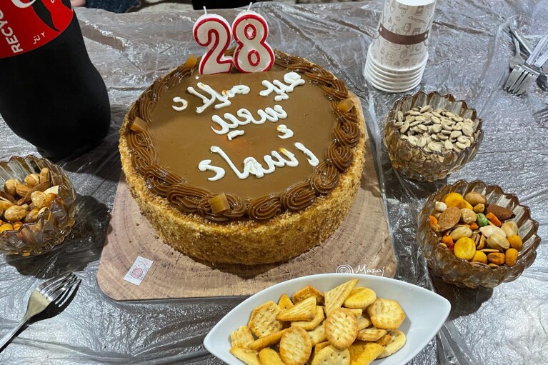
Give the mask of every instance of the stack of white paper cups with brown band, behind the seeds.
M 385 1 L 364 69 L 376 89 L 399 93 L 420 84 L 435 6 L 436 0 Z

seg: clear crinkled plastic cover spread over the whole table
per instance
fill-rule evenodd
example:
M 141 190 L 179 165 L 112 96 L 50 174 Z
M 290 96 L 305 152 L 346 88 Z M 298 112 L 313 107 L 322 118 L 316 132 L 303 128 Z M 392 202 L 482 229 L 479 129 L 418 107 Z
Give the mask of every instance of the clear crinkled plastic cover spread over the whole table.
M 399 94 L 385 94 L 362 76 L 381 0 L 296 6 L 254 4 L 269 23 L 269 43 L 305 56 L 347 81 L 362 99 L 367 128 L 399 259 L 398 278 L 434 287 L 452 303 L 448 321 L 412 364 L 547 364 L 548 111 L 547 94 L 502 91 L 513 54 L 507 21 L 517 16 L 531 41 L 547 33 L 548 1 L 439 1 L 429 61 L 419 86 L 464 99 L 484 119 L 479 154 L 449 176 L 499 184 L 529 205 L 544 240 L 534 264 L 512 283 L 467 290 L 430 277 L 414 234 L 424 199 L 446 181 L 418 184 L 391 168 L 382 147 L 384 117 Z M 239 10 L 214 11 L 234 19 Z M 96 272 L 120 174 L 118 129 L 137 96 L 157 77 L 203 49 L 191 38 L 201 13 L 111 14 L 76 11 L 91 60 L 109 89 L 112 124 L 101 146 L 61 161 L 78 193 L 76 225 L 66 243 L 34 258 L 0 259 L 0 336 L 23 316 L 42 280 L 66 271 L 83 279 L 64 311 L 35 321 L 3 352 L 1 364 L 220 364 L 201 345 L 241 297 L 116 302 L 97 286 Z M 54 89 L 55 86 L 52 86 Z M 29 101 L 31 103 L 31 101 Z M 29 106 L 31 107 L 31 106 Z M 0 156 L 37 154 L 0 122 Z M 61 143 L 61 141 L 60 141 Z

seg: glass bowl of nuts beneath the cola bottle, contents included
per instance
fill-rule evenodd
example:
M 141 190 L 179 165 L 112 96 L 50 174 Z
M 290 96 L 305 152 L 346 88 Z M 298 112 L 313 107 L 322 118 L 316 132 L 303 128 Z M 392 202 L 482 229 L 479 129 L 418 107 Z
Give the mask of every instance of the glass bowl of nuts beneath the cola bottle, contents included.
M 0 253 L 49 251 L 71 231 L 76 191 L 48 159 L 14 156 L 0 161 Z

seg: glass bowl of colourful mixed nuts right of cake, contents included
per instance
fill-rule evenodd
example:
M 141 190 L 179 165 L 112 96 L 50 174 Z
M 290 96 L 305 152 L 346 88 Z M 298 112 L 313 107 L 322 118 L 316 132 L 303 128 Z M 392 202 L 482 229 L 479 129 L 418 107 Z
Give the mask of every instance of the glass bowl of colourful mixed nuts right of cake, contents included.
M 447 283 L 493 288 L 531 266 L 538 226 L 517 196 L 483 181 L 459 180 L 429 196 L 417 242 L 432 272 Z

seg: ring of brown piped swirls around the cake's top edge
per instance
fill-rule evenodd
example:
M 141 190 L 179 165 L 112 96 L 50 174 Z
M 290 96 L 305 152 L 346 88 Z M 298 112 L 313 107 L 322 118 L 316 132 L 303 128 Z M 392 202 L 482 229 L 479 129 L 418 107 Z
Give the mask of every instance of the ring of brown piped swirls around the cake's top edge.
M 148 131 L 136 133 L 129 126 L 139 116 L 150 123 L 151 111 L 161 94 L 171 87 L 180 84 L 196 71 L 184 65 L 154 81 L 144 91 L 128 113 L 129 124 L 126 128 L 126 139 L 131 151 L 131 164 L 134 169 L 144 175 L 150 191 L 159 196 L 165 196 L 169 203 L 184 213 L 198 213 L 211 221 L 229 221 L 249 219 L 264 221 L 271 219 L 284 210 L 299 211 L 314 203 L 314 196 L 329 194 L 339 184 L 339 171 L 344 172 L 352 164 L 354 153 L 352 147 L 359 142 L 359 122 L 355 108 L 343 113 L 337 109 L 337 103 L 349 97 L 349 91 L 344 81 L 336 79 L 326 69 L 297 56 L 290 56 L 275 51 L 275 63 L 286 69 L 299 72 L 309 78 L 309 82 L 317 84 L 332 100 L 332 109 L 337 119 L 334 127 L 334 143 L 328 147 L 327 159 L 322 161 L 309 176 L 307 182 L 290 186 L 284 194 L 269 194 L 251 201 L 242 201 L 239 196 L 225 194 L 230 204 L 228 211 L 213 214 L 209 202 L 210 191 L 198 186 L 186 184 L 186 181 L 171 171 L 157 164 L 154 139 Z M 209 198 L 208 198 L 209 197 Z M 207 198 L 207 199 L 206 199 Z

